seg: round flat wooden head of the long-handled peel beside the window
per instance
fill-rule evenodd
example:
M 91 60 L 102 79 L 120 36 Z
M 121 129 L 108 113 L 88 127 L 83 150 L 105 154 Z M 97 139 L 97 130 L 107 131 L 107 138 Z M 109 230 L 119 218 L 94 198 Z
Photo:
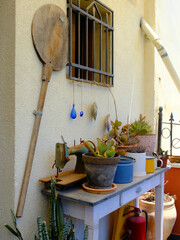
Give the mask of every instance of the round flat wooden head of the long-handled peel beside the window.
M 63 10 L 47 4 L 39 8 L 32 22 L 34 46 L 42 62 L 51 63 L 53 70 L 67 64 L 68 24 Z

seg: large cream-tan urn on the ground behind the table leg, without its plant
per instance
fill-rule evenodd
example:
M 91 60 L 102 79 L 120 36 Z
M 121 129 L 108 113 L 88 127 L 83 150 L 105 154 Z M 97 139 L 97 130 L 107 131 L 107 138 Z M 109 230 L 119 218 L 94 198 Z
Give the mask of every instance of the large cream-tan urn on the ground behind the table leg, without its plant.
M 147 202 L 139 199 L 139 208 L 145 210 L 148 213 L 148 230 L 146 240 L 156 240 L 155 238 L 155 203 Z M 172 198 L 170 202 L 164 203 L 163 211 L 163 240 L 166 240 L 171 234 L 174 223 L 176 221 L 177 213 Z

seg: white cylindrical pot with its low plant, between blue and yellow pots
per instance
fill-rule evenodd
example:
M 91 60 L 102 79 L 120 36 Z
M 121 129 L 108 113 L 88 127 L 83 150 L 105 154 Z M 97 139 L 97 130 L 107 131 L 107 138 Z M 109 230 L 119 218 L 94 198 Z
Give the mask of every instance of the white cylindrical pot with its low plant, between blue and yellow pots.
M 134 177 L 142 177 L 146 175 L 146 149 L 136 147 L 126 152 L 127 157 L 135 159 L 133 175 Z

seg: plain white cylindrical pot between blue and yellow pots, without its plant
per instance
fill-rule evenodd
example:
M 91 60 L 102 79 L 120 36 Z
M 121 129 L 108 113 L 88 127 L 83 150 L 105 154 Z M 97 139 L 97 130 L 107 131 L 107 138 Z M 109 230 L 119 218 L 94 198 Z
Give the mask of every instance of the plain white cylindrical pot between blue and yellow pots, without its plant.
M 143 177 L 146 175 L 146 153 L 130 153 L 126 152 L 127 157 L 132 157 L 136 161 L 133 168 L 134 177 Z

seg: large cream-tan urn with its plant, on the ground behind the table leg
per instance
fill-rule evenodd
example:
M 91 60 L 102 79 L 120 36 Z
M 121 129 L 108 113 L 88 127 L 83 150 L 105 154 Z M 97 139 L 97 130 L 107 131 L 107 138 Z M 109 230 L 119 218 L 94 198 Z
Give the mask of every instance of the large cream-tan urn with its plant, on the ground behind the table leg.
M 164 211 L 163 211 L 163 240 L 166 240 L 176 221 L 177 213 L 175 207 L 176 196 L 170 196 L 164 193 Z M 148 213 L 148 229 L 146 240 L 155 239 L 155 189 L 144 193 L 139 198 L 140 209 Z

